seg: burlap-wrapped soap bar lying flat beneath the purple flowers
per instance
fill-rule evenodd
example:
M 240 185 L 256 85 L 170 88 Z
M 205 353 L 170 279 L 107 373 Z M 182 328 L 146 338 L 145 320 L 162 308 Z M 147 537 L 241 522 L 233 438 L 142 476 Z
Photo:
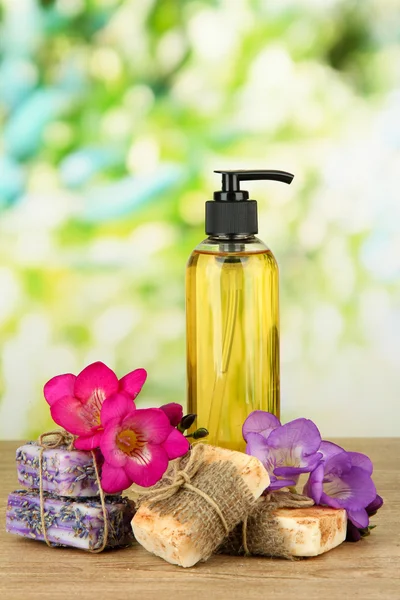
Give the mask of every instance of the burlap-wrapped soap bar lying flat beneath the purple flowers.
M 291 492 L 262 496 L 218 552 L 292 559 L 334 548 L 346 535 L 346 511 L 313 504 L 310 498 Z

